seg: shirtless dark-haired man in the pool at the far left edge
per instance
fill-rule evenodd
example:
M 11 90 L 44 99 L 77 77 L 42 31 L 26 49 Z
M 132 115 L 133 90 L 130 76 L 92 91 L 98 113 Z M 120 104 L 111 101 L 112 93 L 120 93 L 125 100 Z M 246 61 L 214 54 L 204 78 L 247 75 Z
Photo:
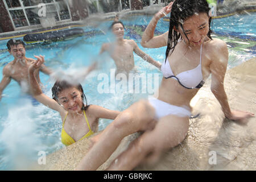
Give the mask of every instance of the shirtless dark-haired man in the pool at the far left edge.
M 28 84 L 28 67 L 30 67 L 31 63 L 35 60 L 26 57 L 25 44 L 22 40 L 10 39 L 7 42 L 7 48 L 9 49 L 10 54 L 13 55 L 14 60 L 3 68 L 3 77 L 0 82 L 0 100 L 2 98 L 3 90 L 10 84 L 12 78 L 18 82 L 25 93 L 32 93 Z M 35 71 L 35 76 L 38 82 L 40 82 L 39 71 L 42 71 L 47 75 L 51 73 L 51 70 L 45 65 L 42 65 Z

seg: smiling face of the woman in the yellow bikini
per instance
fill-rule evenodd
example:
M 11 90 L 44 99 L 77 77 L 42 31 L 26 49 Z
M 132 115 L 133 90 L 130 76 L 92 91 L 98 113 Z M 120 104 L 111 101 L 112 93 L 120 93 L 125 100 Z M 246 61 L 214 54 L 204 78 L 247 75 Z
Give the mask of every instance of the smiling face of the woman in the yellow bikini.
M 58 94 L 58 102 L 63 105 L 65 110 L 71 113 L 79 113 L 84 105 L 81 94 L 75 86 L 64 89 Z

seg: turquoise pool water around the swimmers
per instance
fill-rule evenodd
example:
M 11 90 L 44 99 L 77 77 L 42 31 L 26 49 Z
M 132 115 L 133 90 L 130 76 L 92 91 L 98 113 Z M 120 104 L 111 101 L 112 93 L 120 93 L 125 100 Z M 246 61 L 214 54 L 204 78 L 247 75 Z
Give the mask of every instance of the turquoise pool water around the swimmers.
M 162 62 L 166 47 L 147 49 L 140 44 L 144 27 L 150 22 L 150 19 L 150 16 L 128 16 L 121 20 L 126 27 L 125 37 L 134 39 L 139 48 L 156 61 Z M 213 38 L 223 39 L 228 44 L 229 68 L 255 57 L 255 19 L 256 14 L 251 13 L 251 15 L 234 15 L 213 20 Z M 139 98 L 147 97 L 148 93 L 98 93 L 98 85 L 102 82 L 98 79 L 98 75 L 104 73 L 110 77 L 110 69 L 115 68 L 114 61 L 107 54 L 98 56 L 101 44 L 112 39 L 108 33 L 108 27 L 111 23 L 104 22 L 99 23 L 97 27 L 84 27 L 84 31 L 96 30 L 101 32 L 96 36 L 81 36 L 48 45 L 27 46 L 26 56 L 44 55 L 45 64 L 48 67 L 73 75 L 79 75 L 82 68 L 98 61 L 99 68 L 81 82 L 88 104 L 122 111 Z M 168 22 L 160 20 L 156 27 L 156 34 L 161 34 L 167 30 Z M 3 67 L 13 60 L 13 57 L 5 51 L 6 42 L 7 40 L 0 41 L 0 79 L 2 79 Z M 147 76 L 151 75 L 153 79 L 158 80 L 153 85 L 158 88 L 162 73 L 135 54 L 134 59 L 138 73 L 146 73 Z M 51 97 L 54 81 L 43 73 L 40 73 L 40 78 L 44 84 L 44 93 Z M 109 81 L 106 82 L 109 84 Z M 141 85 L 141 88 L 147 86 L 149 85 Z M 32 105 L 31 98 L 22 94 L 22 90 L 15 81 L 11 81 L 3 94 L 5 96 L 0 101 L 0 169 L 22 169 L 26 166 L 27 160 L 38 158 L 38 151 L 46 151 L 49 154 L 63 147 L 60 142 L 61 119 L 59 113 L 42 104 Z M 110 120 L 101 119 L 100 130 L 104 129 L 110 122 Z

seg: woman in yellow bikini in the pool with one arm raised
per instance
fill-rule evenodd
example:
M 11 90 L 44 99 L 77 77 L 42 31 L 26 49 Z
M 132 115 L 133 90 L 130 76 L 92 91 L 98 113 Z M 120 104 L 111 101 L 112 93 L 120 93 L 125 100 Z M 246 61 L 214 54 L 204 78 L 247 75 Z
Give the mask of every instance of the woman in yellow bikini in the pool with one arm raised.
M 74 86 L 66 81 L 56 81 L 52 87 L 53 98 L 49 98 L 43 94 L 34 74 L 35 69 L 43 64 L 44 57 L 35 57 L 38 60 L 28 69 L 32 94 L 36 100 L 60 113 L 63 121 L 61 142 L 66 146 L 96 132 L 99 118 L 115 119 L 120 113 L 97 105 L 87 105 L 81 84 Z

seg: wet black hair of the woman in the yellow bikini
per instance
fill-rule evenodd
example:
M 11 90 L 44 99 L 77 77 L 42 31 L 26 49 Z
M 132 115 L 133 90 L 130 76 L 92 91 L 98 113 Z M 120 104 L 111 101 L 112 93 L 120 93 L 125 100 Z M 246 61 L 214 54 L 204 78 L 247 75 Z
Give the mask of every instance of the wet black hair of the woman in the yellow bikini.
M 56 81 L 55 84 L 53 85 L 52 87 L 52 98 L 53 100 L 57 101 L 58 99 L 58 94 L 62 91 L 62 90 L 65 90 L 65 89 L 68 89 L 68 88 L 71 88 L 75 86 L 77 88 L 77 90 L 79 90 L 82 94 L 81 94 L 81 98 L 82 98 L 82 101 L 85 100 L 85 105 L 84 105 L 84 102 L 82 103 L 82 110 L 86 110 L 88 109 L 88 107 L 90 105 L 87 105 L 87 100 L 86 100 L 86 97 L 85 97 L 85 94 L 84 94 L 84 89 L 82 89 L 82 85 L 81 84 L 78 84 L 78 85 L 72 85 L 72 84 L 69 84 L 67 81 Z

